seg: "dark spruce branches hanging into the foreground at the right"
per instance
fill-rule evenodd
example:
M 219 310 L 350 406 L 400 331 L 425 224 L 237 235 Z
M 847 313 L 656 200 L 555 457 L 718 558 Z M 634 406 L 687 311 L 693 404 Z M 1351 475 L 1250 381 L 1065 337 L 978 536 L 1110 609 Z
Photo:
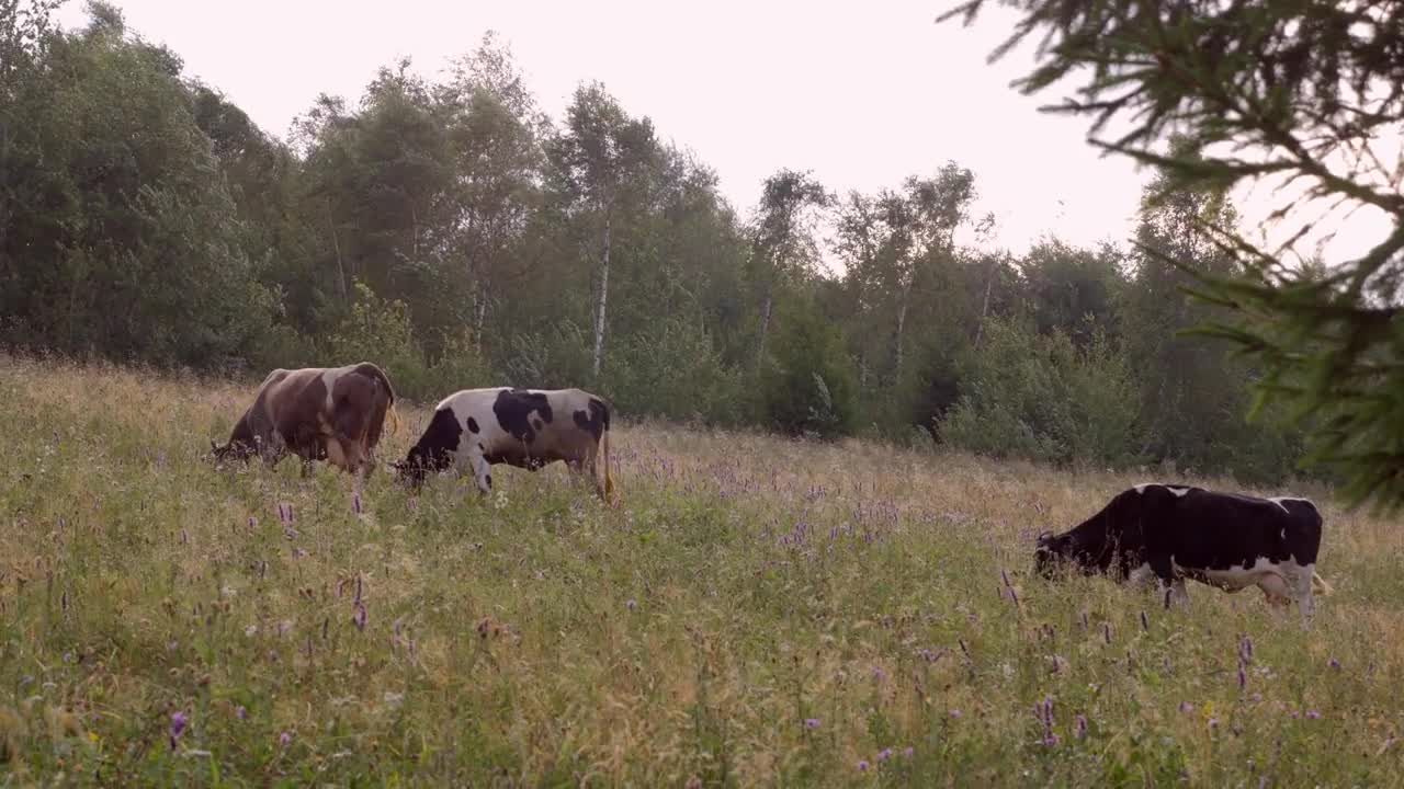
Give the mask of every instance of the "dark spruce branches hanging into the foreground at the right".
M 1015 84 L 1039 93 L 1064 77 L 1074 95 L 1050 111 L 1094 118 L 1091 142 L 1163 168 L 1167 185 L 1276 192 L 1275 218 L 1297 239 L 1338 211 L 1369 209 L 1391 229 L 1365 256 L 1325 277 L 1293 264 L 1292 243 L 1266 248 L 1234 225 L 1199 230 L 1241 275 L 1206 278 L 1199 293 L 1231 310 L 1205 327 L 1261 364 L 1254 413 L 1269 402 L 1311 425 L 1307 462 L 1338 468 L 1355 503 L 1404 505 L 1404 364 L 1394 300 L 1404 277 L 1404 195 L 1377 135 L 1404 121 L 1404 3 L 1294 4 L 1132 0 L 1005 0 L 1021 18 L 994 56 L 1042 38 L 1036 67 Z M 970 0 L 942 18 L 969 24 Z M 1112 121 L 1115 139 L 1098 135 Z M 1199 156 L 1160 147 L 1184 133 Z M 1328 206 L 1325 212 L 1318 206 Z

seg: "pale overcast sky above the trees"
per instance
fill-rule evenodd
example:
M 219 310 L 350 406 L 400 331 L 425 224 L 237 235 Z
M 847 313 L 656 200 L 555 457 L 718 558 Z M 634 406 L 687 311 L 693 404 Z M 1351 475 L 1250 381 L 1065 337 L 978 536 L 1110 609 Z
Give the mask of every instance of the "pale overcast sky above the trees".
M 1022 251 L 1047 233 L 1125 240 L 1148 178 L 1090 147 L 1085 121 L 1036 111 L 1056 95 L 1008 87 L 1028 70 L 1026 51 L 986 63 L 1007 13 L 991 8 L 972 28 L 936 25 L 951 0 L 115 4 L 131 29 L 168 45 L 187 73 L 278 136 L 317 93 L 354 101 L 402 55 L 434 76 L 496 29 L 553 117 L 580 81 L 601 80 L 626 111 L 710 164 L 744 213 L 779 167 L 812 168 L 840 192 L 873 191 L 949 159 L 974 171 L 1000 246 Z M 84 24 L 81 1 L 69 0 L 60 20 Z M 1328 258 L 1353 257 L 1386 232 L 1380 216 L 1358 215 Z

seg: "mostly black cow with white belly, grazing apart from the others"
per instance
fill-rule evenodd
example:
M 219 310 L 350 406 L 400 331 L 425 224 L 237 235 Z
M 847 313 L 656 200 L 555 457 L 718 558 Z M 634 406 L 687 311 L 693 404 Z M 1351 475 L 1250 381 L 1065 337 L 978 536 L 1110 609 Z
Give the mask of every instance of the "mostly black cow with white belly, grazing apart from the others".
M 1307 618 L 1316 609 L 1311 592 L 1331 592 L 1316 573 L 1320 546 L 1321 514 L 1306 498 L 1147 483 L 1067 532 L 1040 533 L 1035 566 L 1045 577 L 1071 563 L 1087 574 L 1155 581 L 1167 606 L 1189 601 L 1185 578 L 1228 592 L 1257 585 L 1271 604 L 1294 598 Z

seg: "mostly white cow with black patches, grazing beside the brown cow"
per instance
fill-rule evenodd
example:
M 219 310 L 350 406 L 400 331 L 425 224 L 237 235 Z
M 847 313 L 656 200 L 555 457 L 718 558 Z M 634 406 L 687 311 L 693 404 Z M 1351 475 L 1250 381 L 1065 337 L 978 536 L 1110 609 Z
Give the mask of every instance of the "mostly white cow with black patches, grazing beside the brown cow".
M 595 465 L 600 452 L 602 475 Z M 601 397 L 580 389 L 498 386 L 455 392 L 434 409 L 424 435 L 395 466 L 400 479 L 414 487 L 430 472 L 470 469 L 486 494 L 493 489 L 490 466 L 496 463 L 535 472 L 556 460 L 564 460 L 577 477 L 588 472 L 600 498 L 612 503 L 609 406 Z

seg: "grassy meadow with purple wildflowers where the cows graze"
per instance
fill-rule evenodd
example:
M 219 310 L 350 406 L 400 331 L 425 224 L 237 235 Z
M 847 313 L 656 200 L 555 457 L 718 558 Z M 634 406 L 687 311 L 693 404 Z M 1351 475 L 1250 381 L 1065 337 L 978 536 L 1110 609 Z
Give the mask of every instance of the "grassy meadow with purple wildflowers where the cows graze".
M 206 462 L 250 393 L 0 358 L 0 782 L 1404 781 L 1404 536 L 1323 491 L 1303 629 L 1031 576 L 1134 476 L 622 424 L 618 510 L 557 466 L 358 512 Z

